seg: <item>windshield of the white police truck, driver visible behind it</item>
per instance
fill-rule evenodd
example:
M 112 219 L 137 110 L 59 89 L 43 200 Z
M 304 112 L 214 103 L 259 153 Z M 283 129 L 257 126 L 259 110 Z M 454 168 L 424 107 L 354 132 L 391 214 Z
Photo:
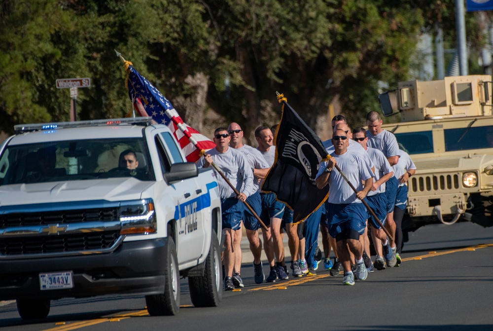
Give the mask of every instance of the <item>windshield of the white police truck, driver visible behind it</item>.
M 155 180 L 143 138 L 12 145 L 0 158 L 0 185 L 116 177 Z

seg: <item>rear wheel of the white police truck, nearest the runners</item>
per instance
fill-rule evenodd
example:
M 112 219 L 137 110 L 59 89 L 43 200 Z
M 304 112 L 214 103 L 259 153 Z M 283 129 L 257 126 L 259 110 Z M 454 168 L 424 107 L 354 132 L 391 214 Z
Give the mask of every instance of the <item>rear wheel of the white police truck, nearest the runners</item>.
M 204 262 L 204 275 L 188 277 L 190 298 L 195 307 L 216 307 L 222 298 L 221 250 L 212 230 L 211 247 Z

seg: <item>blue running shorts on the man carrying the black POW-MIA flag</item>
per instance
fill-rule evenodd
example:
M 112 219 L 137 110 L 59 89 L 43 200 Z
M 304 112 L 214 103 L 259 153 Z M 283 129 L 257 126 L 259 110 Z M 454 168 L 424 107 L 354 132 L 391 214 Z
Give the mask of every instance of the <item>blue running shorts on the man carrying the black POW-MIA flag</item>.
M 366 228 L 368 212 L 362 203 L 329 204 L 329 234 L 335 238 L 346 229 L 358 231 L 361 235 Z

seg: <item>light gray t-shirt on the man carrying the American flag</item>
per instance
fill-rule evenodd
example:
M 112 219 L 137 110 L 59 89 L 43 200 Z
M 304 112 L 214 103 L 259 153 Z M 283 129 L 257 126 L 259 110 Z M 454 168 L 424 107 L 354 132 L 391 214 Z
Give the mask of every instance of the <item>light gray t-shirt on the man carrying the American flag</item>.
M 240 151 L 229 147 L 224 153 L 220 153 L 217 149 L 212 148 L 207 153 L 212 156 L 214 164 L 240 193 L 245 193 L 248 197 L 256 192 L 253 187 L 251 167 Z M 197 167 L 202 168 L 203 166 L 204 157 L 201 157 L 197 161 Z M 236 196 L 235 191 L 220 175 L 216 177 L 217 183 L 219 184 L 219 194 L 222 199 Z

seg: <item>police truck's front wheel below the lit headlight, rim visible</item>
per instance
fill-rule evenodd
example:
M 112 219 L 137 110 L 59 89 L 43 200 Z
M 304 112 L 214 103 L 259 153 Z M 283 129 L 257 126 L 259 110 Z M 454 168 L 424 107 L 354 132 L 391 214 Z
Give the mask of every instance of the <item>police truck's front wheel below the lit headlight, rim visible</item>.
M 168 238 L 164 258 L 166 269 L 165 287 L 163 294 L 145 296 L 147 311 L 151 316 L 176 315 L 180 308 L 180 284 L 178 273 L 178 258 L 173 238 Z

